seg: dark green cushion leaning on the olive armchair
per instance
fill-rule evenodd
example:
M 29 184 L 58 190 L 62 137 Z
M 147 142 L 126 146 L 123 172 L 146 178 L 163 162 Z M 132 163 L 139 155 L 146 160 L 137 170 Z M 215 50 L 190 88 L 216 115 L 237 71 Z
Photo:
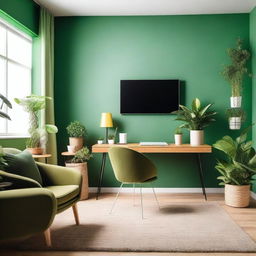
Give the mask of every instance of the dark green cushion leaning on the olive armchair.
M 4 158 L 8 164 L 5 168 L 7 172 L 31 178 L 42 185 L 42 177 L 31 153 L 6 154 Z

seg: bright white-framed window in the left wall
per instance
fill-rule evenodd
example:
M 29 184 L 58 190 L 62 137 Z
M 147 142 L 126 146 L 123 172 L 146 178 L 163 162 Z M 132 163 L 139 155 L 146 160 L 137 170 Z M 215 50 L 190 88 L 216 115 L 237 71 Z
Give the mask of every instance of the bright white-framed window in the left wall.
M 32 38 L 0 19 L 0 93 L 12 103 L 3 108 L 11 121 L 0 118 L 0 136 L 28 134 L 28 114 L 14 102 L 31 94 Z

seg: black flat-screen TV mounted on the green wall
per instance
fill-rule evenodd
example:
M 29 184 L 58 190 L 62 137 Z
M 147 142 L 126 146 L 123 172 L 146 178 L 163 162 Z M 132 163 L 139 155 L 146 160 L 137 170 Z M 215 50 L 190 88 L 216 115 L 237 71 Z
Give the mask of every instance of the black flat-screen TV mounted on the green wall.
M 165 114 L 179 109 L 179 80 L 121 80 L 121 114 Z

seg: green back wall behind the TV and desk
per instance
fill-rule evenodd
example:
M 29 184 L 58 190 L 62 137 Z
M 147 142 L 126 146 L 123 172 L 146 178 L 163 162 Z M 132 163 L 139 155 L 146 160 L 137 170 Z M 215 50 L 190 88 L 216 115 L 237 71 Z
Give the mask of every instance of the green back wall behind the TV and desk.
M 199 97 L 214 103 L 217 122 L 206 129 L 212 144 L 228 130 L 225 109 L 230 87 L 220 75 L 229 62 L 226 49 L 238 37 L 249 44 L 249 15 L 59 17 L 55 19 L 55 103 L 58 149 L 65 151 L 65 127 L 80 120 L 94 144 L 104 129 L 101 112 L 112 112 L 119 131 L 129 142 L 173 142 L 178 125 L 172 115 L 120 115 L 121 79 L 180 79 L 184 104 Z M 251 123 L 251 82 L 245 81 L 243 105 Z M 188 142 L 188 132 L 184 142 Z M 158 187 L 199 187 L 196 161 L 189 154 L 148 155 L 159 169 Z M 216 187 L 216 153 L 204 155 L 207 187 Z M 63 160 L 63 159 L 62 159 Z M 90 186 L 96 186 L 100 155 L 89 162 Z M 103 186 L 116 186 L 109 163 Z

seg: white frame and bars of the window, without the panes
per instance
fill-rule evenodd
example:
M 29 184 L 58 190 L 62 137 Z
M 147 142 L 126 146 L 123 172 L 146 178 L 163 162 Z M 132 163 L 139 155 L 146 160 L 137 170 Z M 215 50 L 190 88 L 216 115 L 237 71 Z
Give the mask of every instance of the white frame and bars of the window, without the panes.
M 5 61 L 5 92 L 4 92 L 4 95 L 8 95 L 8 63 L 13 63 L 15 65 L 18 65 L 22 68 L 25 68 L 27 70 L 30 70 L 30 76 L 31 76 L 31 79 L 30 79 L 30 86 L 29 86 L 29 91 L 30 93 L 32 93 L 32 72 L 33 72 L 33 38 L 32 36 L 29 36 L 27 34 L 25 34 L 24 32 L 22 31 L 19 31 L 18 29 L 16 29 L 13 25 L 9 24 L 8 22 L 6 22 L 5 20 L 3 20 L 1 17 L 0 17 L 0 26 L 4 27 L 6 30 L 5 30 L 5 33 L 6 33 L 6 42 L 5 42 L 5 45 L 6 45 L 6 48 L 5 48 L 5 56 L 3 56 L 1 53 L 0 53 L 0 59 L 4 60 Z M 26 40 L 27 42 L 31 43 L 31 67 L 25 65 L 25 64 L 21 64 L 20 62 L 18 61 L 15 61 L 13 59 L 10 59 L 8 58 L 8 31 L 10 31 L 11 33 L 21 37 L 22 39 Z M 4 107 L 3 110 L 8 114 L 8 108 Z M 11 132 L 8 132 L 8 122 L 11 122 L 11 121 L 8 121 L 8 120 L 4 120 L 5 121 L 5 133 L 1 133 L 0 132 L 0 139 L 16 139 L 16 138 L 29 138 L 30 135 L 29 133 L 11 133 Z

